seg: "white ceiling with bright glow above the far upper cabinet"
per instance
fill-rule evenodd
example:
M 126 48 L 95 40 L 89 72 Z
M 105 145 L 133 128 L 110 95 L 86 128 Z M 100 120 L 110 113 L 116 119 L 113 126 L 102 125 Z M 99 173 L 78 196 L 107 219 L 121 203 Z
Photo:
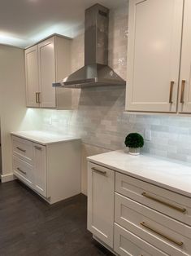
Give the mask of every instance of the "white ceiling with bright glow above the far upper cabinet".
M 112 9 L 127 0 L 0 0 L 0 43 L 24 48 L 53 33 L 70 36 L 97 2 Z

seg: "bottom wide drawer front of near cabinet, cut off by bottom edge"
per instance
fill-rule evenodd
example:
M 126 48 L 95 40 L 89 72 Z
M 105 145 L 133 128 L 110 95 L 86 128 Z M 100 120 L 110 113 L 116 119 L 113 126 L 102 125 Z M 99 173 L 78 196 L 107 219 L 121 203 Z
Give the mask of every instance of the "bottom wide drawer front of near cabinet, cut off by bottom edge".
M 115 223 L 114 250 L 121 256 L 167 256 L 161 250 Z

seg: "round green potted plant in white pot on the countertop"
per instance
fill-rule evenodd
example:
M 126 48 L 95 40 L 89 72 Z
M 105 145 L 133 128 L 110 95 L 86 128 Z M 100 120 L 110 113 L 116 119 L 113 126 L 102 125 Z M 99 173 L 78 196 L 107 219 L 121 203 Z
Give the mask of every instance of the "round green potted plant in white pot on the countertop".
M 131 155 L 139 155 L 140 148 L 144 145 L 144 139 L 140 134 L 131 133 L 129 134 L 124 141 L 126 147 L 129 148 L 128 153 Z

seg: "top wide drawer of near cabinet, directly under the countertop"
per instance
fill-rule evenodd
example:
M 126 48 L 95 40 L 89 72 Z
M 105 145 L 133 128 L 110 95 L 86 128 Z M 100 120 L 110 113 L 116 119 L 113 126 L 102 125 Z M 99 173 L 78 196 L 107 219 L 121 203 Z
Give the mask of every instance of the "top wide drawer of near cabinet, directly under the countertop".
M 115 191 L 191 226 L 191 200 L 124 174 L 115 174 Z

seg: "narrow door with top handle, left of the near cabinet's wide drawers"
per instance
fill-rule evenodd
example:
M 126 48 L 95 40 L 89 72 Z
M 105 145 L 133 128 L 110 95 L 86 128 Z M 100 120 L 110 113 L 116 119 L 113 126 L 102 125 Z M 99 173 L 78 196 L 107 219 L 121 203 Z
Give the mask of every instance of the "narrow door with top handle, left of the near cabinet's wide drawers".
M 115 172 L 89 163 L 88 229 L 113 248 Z

